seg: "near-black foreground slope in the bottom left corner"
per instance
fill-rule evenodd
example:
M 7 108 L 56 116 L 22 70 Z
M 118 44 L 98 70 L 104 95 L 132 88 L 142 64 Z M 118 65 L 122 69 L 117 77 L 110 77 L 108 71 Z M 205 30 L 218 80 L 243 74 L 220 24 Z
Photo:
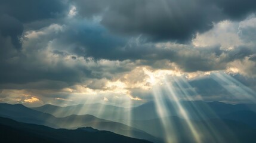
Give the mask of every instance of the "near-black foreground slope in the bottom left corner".
M 149 142 L 108 131 L 53 129 L 0 117 L 1 142 Z

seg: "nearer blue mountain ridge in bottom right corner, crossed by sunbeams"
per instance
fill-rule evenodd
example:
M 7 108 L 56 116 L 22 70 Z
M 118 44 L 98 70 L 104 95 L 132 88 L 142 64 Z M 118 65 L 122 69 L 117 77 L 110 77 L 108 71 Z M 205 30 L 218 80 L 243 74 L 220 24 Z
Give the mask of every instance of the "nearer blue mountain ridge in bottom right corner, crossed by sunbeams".
M 165 121 L 171 126 L 162 124 L 161 119 L 133 120 L 131 126 L 145 130 L 158 138 L 165 138 L 166 128 L 168 134 L 175 134 L 178 142 L 195 142 L 193 134 L 186 123 L 186 120 L 179 117 L 165 117 Z M 202 137 L 202 142 L 256 142 L 256 128 L 245 123 L 234 120 L 209 119 L 209 120 L 190 120 Z

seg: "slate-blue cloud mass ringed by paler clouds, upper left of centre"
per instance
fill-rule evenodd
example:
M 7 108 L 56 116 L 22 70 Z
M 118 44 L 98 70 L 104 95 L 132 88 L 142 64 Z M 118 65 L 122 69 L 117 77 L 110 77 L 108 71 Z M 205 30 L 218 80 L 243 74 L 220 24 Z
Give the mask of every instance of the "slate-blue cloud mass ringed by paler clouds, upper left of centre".
M 65 26 L 63 33 L 58 35 L 55 40 L 57 51 L 66 50 L 96 60 L 103 58 L 118 60 L 121 57 L 118 53 L 124 51 L 122 48 L 125 46 L 127 38 L 109 33 L 98 23 L 73 19 L 72 22 L 66 22 Z

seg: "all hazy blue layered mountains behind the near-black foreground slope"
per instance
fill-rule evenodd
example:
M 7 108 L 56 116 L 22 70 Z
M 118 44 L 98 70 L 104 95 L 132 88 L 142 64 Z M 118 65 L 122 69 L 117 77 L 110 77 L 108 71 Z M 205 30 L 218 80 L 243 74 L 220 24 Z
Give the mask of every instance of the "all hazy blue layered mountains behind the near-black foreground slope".
M 171 101 L 163 102 L 163 107 L 168 113 L 162 117 L 159 117 L 155 102 L 147 102 L 133 108 L 90 104 L 68 107 L 44 105 L 31 109 L 20 104 L 0 104 L 0 116 L 52 128 L 79 129 L 87 132 L 109 130 L 152 142 L 164 142 L 166 136 L 175 136 L 178 142 L 195 142 L 195 133 L 193 134 L 188 124 L 190 123 L 195 128 L 196 134 L 201 136 L 201 142 L 256 142 L 256 104 L 232 105 L 203 101 L 180 103 L 187 111 L 189 120 L 184 119 L 176 103 Z M 111 117 L 113 114 L 106 114 L 111 112 L 107 108 L 118 115 Z M 100 115 L 99 113 L 103 113 L 101 117 L 106 118 L 95 117 Z M 125 118 L 128 117 L 127 115 L 130 116 L 128 119 Z

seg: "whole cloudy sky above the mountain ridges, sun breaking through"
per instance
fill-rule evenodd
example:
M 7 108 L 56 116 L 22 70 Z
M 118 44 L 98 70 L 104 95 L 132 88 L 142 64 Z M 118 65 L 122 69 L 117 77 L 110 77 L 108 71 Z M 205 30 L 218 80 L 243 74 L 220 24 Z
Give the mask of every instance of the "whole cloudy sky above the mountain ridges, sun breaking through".
M 255 102 L 255 12 L 255 0 L 0 0 L 0 102 L 140 105 L 169 85 L 179 100 Z

